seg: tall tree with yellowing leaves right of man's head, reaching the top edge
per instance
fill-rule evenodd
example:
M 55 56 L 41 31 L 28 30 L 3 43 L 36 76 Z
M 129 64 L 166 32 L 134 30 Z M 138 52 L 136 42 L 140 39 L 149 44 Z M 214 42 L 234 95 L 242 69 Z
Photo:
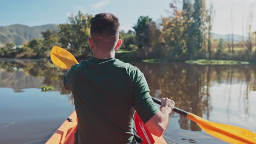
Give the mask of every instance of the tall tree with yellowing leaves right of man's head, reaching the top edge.
M 164 37 L 164 56 L 174 61 L 188 58 L 189 43 L 191 43 L 191 24 L 193 20 L 193 5 L 184 0 L 182 10 L 177 7 L 177 1 L 170 4 L 173 15 L 162 17 L 162 37 Z

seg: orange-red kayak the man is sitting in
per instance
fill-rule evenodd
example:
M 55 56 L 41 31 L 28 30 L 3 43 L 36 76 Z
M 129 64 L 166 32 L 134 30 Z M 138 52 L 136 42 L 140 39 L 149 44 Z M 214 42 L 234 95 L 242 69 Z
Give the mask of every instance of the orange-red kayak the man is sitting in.
M 135 113 L 135 125 L 137 129 L 137 135 L 143 139 L 142 144 L 161 143 L 167 144 L 164 137 L 155 136 L 150 134 L 141 118 Z M 74 134 L 77 130 L 77 113 L 73 111 L 71 115 L 62 123 L 59 129 L 50 137 L 46 144 L 73 144 Z

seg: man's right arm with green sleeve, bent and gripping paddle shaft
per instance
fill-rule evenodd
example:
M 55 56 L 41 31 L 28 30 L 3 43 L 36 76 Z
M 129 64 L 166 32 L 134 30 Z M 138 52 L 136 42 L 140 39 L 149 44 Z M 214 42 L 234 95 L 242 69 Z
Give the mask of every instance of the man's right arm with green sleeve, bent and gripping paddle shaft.
M 163 98 L 161 100 L 159 111 L 149 94 L 150 90 L 144 75 L 139 69 L 133 71 L 132 74 L 135 81 L 133 91 L 135 110 L 139 117 L 141 117 L 142 121 L 146 124 L 149 132 L 156 136 L 161 136 L 168 128 L 170 115 L 174 107 L 174 101 L 168 98 Z

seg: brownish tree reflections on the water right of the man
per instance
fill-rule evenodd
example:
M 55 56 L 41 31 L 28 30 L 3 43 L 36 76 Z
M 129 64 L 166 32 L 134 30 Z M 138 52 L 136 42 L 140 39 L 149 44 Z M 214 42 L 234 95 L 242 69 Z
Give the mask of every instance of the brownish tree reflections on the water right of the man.
M 168 97 L 176 101 L 176 106 L 206 119 L 212 111 L 211 87 L 228 85 L 226 115 L 230 116 L 231 101 L 244 106 L 246 118 L 249 117 L 249 93 L 255 91 L 254 65 L 189 65 L 184 63 L 160 65 L 133 63 L 141 69 L 148 80 L 151 94 L 155 97 Z M 240 85 L 240 99 L 231 95 L 234 85 Z M 246 86 L 243 88 L 242 86 Z M 221 86 L 220 86 L 221 87 Z M 218 101 L 214 101 L 218 103 Z M 223 110 L 225 111 L 225 110 Z M 252 111 L 252 110 L 251 110 Z M 229 121 L 230 119 L 228 119 Z M 182 129 L 200 131 L 200 127 L 185 117 L 179 118 Z

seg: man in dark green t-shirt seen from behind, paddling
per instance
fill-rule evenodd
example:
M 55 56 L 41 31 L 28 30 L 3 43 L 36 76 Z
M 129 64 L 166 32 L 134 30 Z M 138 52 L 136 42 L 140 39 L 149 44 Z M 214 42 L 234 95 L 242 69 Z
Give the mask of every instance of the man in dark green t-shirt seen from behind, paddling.
M 75 143 L 136 143 L 132 132 L 135 111 L 150 133 L 161 136 L 174 102 L 162 99 L 159 111 L 141 71 L 114 58 L 122 44 L 116 16 L 97 14 L 90 23 L 92 57 L 73 65 L 64 77 L 77 111 Z

